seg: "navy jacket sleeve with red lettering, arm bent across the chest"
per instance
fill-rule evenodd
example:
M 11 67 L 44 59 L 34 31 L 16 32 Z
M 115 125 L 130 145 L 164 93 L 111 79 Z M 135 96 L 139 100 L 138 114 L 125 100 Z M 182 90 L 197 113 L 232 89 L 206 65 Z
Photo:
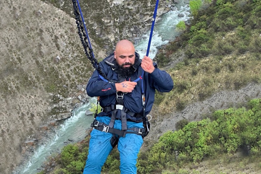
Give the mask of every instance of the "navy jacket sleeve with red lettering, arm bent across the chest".
M 95 70 L 90 78 L 86 91 L 88 96 L 108 96 L 116 93 L 115 83 L 109 83 L 99 78 L 98 72 Z

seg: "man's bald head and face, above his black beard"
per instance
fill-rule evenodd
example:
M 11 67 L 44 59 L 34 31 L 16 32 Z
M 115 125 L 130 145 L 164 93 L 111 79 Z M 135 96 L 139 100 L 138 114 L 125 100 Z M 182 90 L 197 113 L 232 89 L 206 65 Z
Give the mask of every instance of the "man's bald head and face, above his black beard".
M 129 68 L 135 62 L 135 48 L 131 41 L 121 40 L 116 44 L 114 58 L 124 68 Z

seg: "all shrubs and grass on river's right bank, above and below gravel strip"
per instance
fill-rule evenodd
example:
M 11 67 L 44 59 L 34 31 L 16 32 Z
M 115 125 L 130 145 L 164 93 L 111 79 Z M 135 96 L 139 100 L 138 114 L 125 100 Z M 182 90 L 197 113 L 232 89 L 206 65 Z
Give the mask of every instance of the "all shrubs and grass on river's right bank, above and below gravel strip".
M 194 0 L 190 7 L 194 15 L 191 27 L 167 45 L 165 53 L 158 54 L 159 66 L 168 68 L 175 84 L 171 92 L 156 94 L 155 104 L 162 116 L 182 111 L 189 103 L 218 91 L 238 90 L 261 80 L 261 1 L 202 4 Z M 178 58 L 183 61 L 173 63 Z M 138 173 L 259 173 L 260 116 L 261 100 L 254 99 L 245 107 L 217 110 L 200 121 L 182 120 L 176 131 L 164 133 L 151 148 L 139 153 Z M 59 164 L 51 173 L 82 173 L 88 141 L 89 136 L 51 158 L 50 164 Z M 114 149 L 103 173 L 119 174 L 119 165 Z

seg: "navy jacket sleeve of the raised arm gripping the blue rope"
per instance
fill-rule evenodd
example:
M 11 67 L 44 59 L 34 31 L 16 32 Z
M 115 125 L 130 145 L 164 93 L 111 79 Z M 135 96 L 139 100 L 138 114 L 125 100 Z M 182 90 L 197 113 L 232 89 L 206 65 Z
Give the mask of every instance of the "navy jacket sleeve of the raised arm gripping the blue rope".
M 161 71 L 155 66 L 155 70 L 150 74 L 152 77 L 152 86 L 160 92 L 169 92 L 174 84 L 170 75 L 166 71 Z

